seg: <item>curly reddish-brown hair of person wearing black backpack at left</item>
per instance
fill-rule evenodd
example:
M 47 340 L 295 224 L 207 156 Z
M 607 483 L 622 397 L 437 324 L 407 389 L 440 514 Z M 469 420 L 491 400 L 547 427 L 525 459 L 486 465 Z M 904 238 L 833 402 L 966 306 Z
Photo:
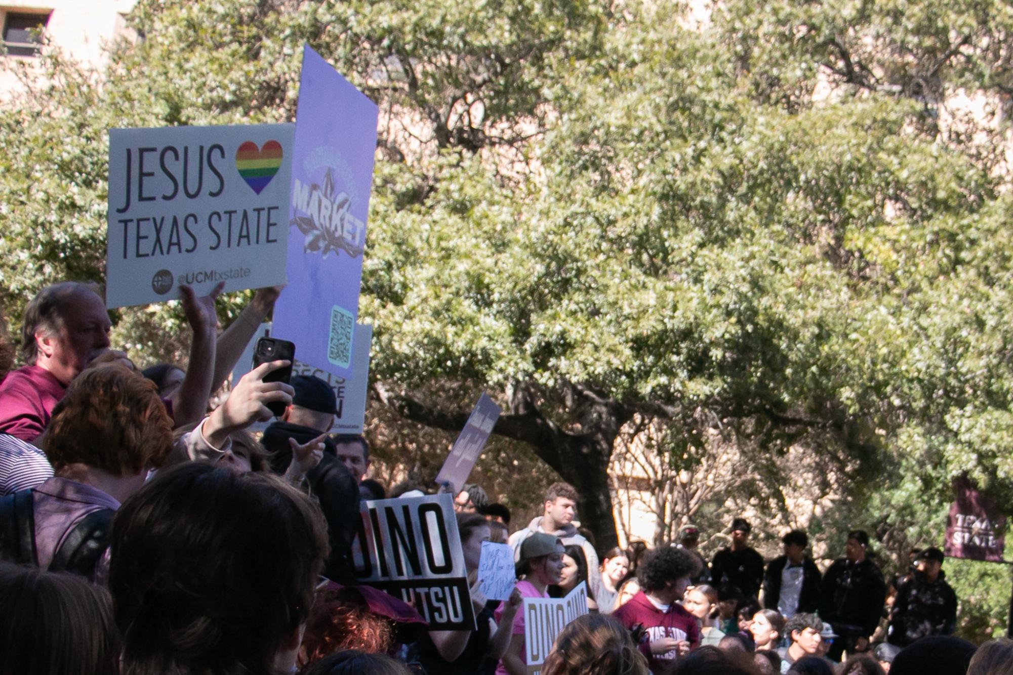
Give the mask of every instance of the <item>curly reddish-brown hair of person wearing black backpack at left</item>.
M 84 370 L 53 409 L 43 448 L 55 470 L 83 463 L 112 476 L 158 469 L 172 421 L 155 385 L 115 363 Z

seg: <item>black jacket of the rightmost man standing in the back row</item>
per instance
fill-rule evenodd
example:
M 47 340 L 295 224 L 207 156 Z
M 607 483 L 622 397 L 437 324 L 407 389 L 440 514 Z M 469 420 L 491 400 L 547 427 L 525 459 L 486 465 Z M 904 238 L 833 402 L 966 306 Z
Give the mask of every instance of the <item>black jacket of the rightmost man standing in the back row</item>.
M 906 647 L 926 636 L 949 636 L 956 628 L 956 593 L 939 573 L 929 582 L 920 572 L 901 583 L 890 610 L 891 645 Z

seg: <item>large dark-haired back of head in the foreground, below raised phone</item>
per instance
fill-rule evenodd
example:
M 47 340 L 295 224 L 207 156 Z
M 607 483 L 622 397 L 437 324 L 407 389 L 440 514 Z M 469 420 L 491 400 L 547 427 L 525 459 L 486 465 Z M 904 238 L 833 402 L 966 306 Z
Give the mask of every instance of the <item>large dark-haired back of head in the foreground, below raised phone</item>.
M 306 495 L 198 462 L 159 472 L 129 498 L 110 547 L 124 675 L 270 672 L 309 615 L 328 553 Z

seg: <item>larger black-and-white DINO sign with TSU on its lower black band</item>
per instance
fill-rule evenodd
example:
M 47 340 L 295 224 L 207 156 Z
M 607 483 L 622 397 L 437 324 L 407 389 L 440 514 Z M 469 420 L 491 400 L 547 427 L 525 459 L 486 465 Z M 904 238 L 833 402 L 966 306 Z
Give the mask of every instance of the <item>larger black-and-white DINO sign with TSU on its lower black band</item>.
M 437 630 L 474 630 L 468 572 L 449 494 L 360 502 L 352 545 L 361 584 L 409 602 Z

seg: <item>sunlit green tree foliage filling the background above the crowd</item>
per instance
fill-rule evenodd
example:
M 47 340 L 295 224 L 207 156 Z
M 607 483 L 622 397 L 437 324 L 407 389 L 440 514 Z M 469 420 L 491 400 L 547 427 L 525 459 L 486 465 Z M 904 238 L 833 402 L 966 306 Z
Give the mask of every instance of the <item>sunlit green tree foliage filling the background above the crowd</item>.
M 0 116 L 0 289 L 16 324 L 43 283 L 101 278 L 108 128 L 291 120 L 308 41 L 381 109 L 377 376 L 523 386 L 583 432 L 578 385 L 665 418 L 675 469 L 733 445 L 773 510 L 803 448 L 849 514 L 938 536 L 918 511 L 953 476 L 1013 499 L 1010 12 L 140 2 L 101 86 L 56 59 Z M 164 357 L 177 326 L 118 330 Z

